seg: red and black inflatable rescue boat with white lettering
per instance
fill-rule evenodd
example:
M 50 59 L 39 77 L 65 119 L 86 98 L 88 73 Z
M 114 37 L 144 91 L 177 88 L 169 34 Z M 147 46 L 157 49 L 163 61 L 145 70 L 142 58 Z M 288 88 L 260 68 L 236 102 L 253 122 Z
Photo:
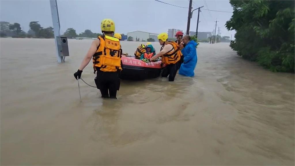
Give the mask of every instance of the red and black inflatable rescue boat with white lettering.
M 157 78 L 165 67 L 162 61 L 144 62 L 134 57 L 122 56 L 121 79 L 142 80 Z

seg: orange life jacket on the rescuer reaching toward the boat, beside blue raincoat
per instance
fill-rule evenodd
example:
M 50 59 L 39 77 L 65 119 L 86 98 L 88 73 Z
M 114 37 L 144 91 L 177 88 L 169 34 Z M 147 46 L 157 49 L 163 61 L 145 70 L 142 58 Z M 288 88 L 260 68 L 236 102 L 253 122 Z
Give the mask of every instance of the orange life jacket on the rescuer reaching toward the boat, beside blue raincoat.
M 164 55 L 162 55 L 162 62 L 166 65 L 176 64 L 182 56 L 182 53 L 179 49 L 179 45 L 174 41 L 169 41 L 165 45 L 167 45 L 167 44 L 171 44 L 173 46 L 173 48 L 170 51 L 168 51 L 167 53 L 165 53 Z M 161 47 L 161 51 L 163 50 L 165 45 L 163 45 Z

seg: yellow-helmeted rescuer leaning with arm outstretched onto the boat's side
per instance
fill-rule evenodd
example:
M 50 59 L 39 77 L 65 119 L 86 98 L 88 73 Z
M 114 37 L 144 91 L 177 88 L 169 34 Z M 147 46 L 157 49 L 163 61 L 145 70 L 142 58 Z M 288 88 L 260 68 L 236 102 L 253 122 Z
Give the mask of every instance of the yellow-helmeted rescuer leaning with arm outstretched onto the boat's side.
M 166 64 L 166 67 L 163 69 L 162 77 L 168 77 L 169 75 L 169 81 L 174 81 L 182 56 L 179 45 L 174 41 L 168 41 L 168 34 L 165 32 L 160 33 L 158 39 L 160 45 L 162 45 L 161 50 L 150 58 L 150 61 L 154 61 L 161 56 L 162 62 Z

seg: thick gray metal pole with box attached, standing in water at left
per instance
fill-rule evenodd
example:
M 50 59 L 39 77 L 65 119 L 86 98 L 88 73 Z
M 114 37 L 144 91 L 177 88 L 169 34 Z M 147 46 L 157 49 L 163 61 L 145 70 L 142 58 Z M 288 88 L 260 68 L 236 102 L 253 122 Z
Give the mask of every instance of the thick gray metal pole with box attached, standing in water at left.
M 57 9 L 56 0 L 50 0 L 50 9 L 51 9 L 53 31 L 54 31 L 56 58 L 57 58 L 58 63 L 62 63 L 63 62 L 63 57 L 58 56 L 58 47 L 57 47 L 57 40 L 56 40 L 56 37 L 60 36 L 60 34 L 59 34 L 60 25 L 59 25 L 58 9 Z

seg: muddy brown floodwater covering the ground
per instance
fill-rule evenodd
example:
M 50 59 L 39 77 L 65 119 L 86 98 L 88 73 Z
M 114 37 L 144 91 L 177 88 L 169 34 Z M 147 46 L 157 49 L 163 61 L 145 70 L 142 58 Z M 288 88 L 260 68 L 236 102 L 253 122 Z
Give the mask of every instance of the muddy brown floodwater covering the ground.
M 294 165 L 294 74 L 201 43 L 193 78 L 122 81 L 118 100 L 80 82 L 80 102 L 92 40 L 68 42 L 58 64 L 53 39 L 1 38 L 1 165 Z

